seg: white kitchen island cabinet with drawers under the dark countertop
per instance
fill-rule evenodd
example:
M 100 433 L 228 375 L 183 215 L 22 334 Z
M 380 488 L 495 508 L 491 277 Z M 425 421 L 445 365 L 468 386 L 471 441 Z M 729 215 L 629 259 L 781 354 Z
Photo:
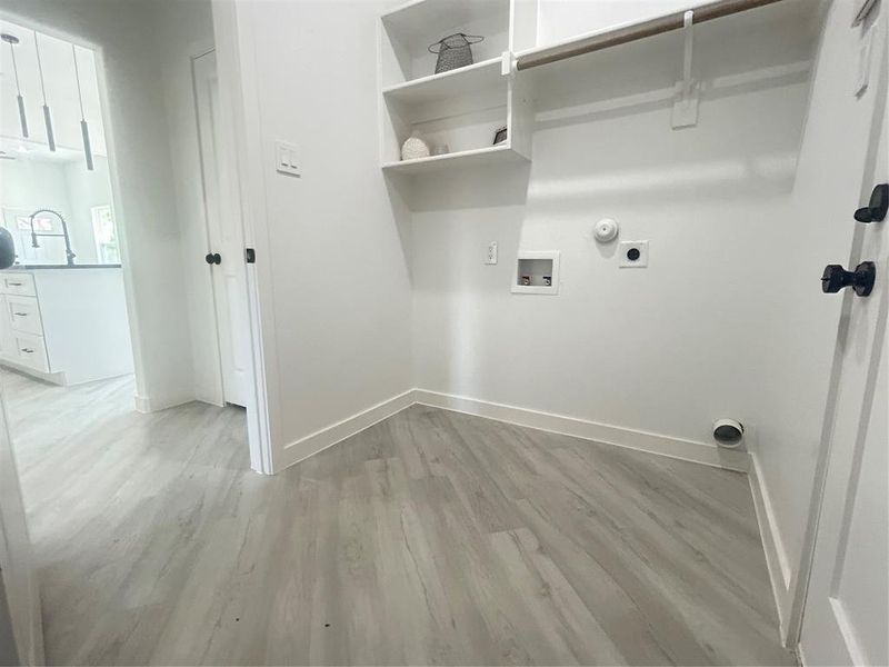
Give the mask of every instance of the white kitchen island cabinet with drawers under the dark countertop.
M 120 268 L 0 273 L 0 364 L 58 385 L 132 372 Z

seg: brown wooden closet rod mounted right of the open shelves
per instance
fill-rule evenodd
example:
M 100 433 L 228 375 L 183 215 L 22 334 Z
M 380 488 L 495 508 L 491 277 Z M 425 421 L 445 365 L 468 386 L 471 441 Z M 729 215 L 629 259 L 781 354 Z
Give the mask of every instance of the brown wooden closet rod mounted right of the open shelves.
M 757 9 L 781 1 L 782 0 L 715 0 L 713 2 L 691 8 L 691 11 L 695 12 L 693 22 L 702 23 L 712 19 L 721 19 L 722 17 L 747 11 L 748 9 Z M 686 10 L 678 11 L 657 19 L 651 19 L 650 21 L 633 23 L 632 26 L 617 28 L 616 30 L 591 34 L 590 37 L 583 37 L 571 42 L 536 50 L 525 56 L 519 56 L 516 60 L 516 68 L 519 70 L 531 69 L 532 67 L 567 60 L 575 56 L 601 51 L 602 49 L 617 47 L 618 44 L 625 44 L 638 39 L 645 39 L 646 37 L 680 30 L 685 26 L 685 16 Z

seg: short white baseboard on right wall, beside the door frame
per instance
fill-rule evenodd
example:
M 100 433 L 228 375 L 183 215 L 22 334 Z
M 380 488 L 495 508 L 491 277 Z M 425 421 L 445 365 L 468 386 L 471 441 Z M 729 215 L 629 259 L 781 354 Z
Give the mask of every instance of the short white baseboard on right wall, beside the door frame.
M 759 465 L 759 457 L 756 452 L 750 454 L 750 491 L 753 495 L 753 507 L 757 512 L 759 524 L 759 535 L 762 540 L 762 548 L 766 551 L 766 565 L 769 569 L 771 590 L 775 595 L 775 607 L 778 610 L 778 624 L 780 625 L 781 638 L 787 637 L 787 618 L 785 610 L 788 609 L 790 601 L 791 571 L 787 558 L 787 550 L 778 529 L 778 521 L 775 517 L 775 508 L 769 496 L 766 480 L 762 478 L 762 469 Z

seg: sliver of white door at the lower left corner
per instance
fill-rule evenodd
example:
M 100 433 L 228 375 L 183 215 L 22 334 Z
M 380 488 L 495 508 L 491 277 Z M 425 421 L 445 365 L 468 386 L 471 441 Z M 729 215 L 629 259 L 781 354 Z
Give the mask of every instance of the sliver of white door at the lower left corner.
M 0 665 L 42 665 L 37 571 L 0 391 Z

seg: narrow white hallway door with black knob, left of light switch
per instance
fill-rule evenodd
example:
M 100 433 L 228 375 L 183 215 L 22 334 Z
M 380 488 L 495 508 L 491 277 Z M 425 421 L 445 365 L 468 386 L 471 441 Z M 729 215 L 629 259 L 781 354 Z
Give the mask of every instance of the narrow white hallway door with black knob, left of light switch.
M 220 150 L 227 133 L 220 131 L 216 52 L 211 51 L 194 59 L 194 90 L 207 210 L 207 251 L 209 255 L 219 255 L 220 258 L 220 263 L 209 265 L 209 270 L 212 273 L 216 300 L 222 392 L 227 402 L 247 406 L 250 387 L 247 273 L 242 230 L 237 211 L 227 211 L 220 206 L 220 192 L 236 186 L 226 182 L 228 172 L 220 170 L 218 162 L 218 156 L 230 152 Z

